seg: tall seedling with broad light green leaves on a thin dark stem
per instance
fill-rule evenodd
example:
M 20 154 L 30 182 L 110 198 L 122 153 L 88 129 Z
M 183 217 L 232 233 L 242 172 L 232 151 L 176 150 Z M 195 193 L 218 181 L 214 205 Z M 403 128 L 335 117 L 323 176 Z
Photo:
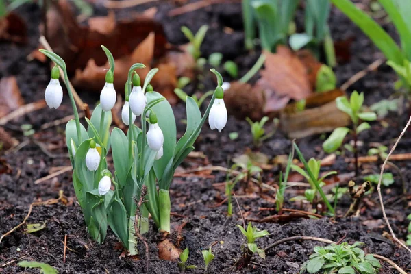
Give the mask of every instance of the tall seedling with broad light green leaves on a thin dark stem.
M 341 96 L 336 98 L 336 106 L 338 110 L 347 113 L 351 117 L 352 129 L 348 127 L 337 127 L 334 132 L 325 140 L 323 143 L 323 149 L 327 153 L 332 153 L 343 145 L 343 141 L 347 134 L 353 136 L 354 145 L 351 146 L 346 144 L 345 149 L 354 153 L 355 165 L 356 165 L 356 176 L 358 175 L 358 149 L 357 140 L 358 134 L 366 129 L 370 129 L 371 126 L 367 121 L 375 121 L 377 119 L 377 114 L 375 112 L 364 112 L 362 110 L 362 105 L 364 103 L 364 93 L 354 91 L 349 98 Z M 363 121 L 362 123 L 360 123 Z

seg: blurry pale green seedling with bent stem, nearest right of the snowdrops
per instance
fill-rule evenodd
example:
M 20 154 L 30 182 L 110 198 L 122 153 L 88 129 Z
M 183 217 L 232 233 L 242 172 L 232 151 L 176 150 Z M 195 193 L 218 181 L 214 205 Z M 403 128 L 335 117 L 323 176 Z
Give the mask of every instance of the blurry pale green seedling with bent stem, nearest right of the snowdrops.
M 229 175 L 232 174 L 232 171 L 240 169 L 239 173 L 236 173 L 236 176 L 232 179 L 229 179 Z M 262 169 L 260 166 L 255 166 L 251 161 L 248 161 L 247 164 L 233 164 L 230 171 L 227 173 L 227 179 L 225 182 L 225 196 L 227 197 L 227 215 L 232 216 L 233 214 L 233 203 L 232 203 L 232 192 L 234 186 L 238 182 L 245 182 L 246 184 L 249 182 L 249 179 L 252 177 L 261 177 Z

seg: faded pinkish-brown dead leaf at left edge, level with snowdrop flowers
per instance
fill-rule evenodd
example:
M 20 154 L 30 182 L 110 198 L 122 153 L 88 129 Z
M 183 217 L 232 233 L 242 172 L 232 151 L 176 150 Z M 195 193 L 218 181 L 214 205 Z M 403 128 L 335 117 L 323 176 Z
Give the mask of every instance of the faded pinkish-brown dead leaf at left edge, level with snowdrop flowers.
M 16 77 L 3 77 L 0 80 L 0 118 L 24 105 Z

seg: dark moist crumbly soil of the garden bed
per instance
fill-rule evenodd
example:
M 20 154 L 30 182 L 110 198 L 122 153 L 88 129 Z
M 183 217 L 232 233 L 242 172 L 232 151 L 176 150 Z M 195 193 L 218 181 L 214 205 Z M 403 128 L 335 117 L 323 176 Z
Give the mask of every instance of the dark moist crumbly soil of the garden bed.
M 240 75 L 243 75 L 253 65 L 258 52 L 247 53 L 243 49 L 242 41 L 242 21 L 240 15 L 240 4 L 212 5 L 203 10 L 190 12 L 175 18 L 169 18 L 166 12 L 175 8 L 171 4 L 161 4 L 158 7 L 156 18 L 164 23 L 166 35 L 170 42 L 183 44 L 186 42 L 184 36 L 179 31 L 182 25 L 187 25 L 195 31 L 203 24 L 210 25 L 210 30 L 201 47 L 204 55 L 209 55 L 215 51 L 224 54 L 226 60 L 233 60 L 240 66 Z M 102 11 L 101 7 L 97 10 Z M 104 11 L 102 11 L 104 12 Z M 18 13 L 25 18 L 29 25 L 29 44 L 18 46 L 10 43 L 0 43 L 0 77 L 14 75 L 18 79 L 18 85 L 26 103 L 31 103 L 42 99 L 44 90 L 49 82 L 49 68 L 40 62 L 27 62 L 26 56 L 37 47 L 38 23 L 40 22 L 40 10 L 36 5 L 24 5 L 18 9 Z M 121 11 L 119 16 L 126 16 L 127 12 Z M 298 23 L 298 20 L 297 20 Z M 233 32 L 223 32 L 224 27 L 230 27 Z M 340 64 L 336 68 L 338 82 L 342 84 L 351 75 L 364 69 L 382 54 L 372 45 L 372 43 L 338 10 L 332 10 L 330 27 L 334 40 L 343 41 L 347 38 L 355 39 L 349 46 L 351 60 L 345 64 Z M 388 31 L 395 35 L 392 25 L 384 25 Z M 223 75 L 229 79 L 227 75 Z M 386 65 L 379 67 L 360 79 L 350 90 L 364 91 L 366 105 L 371 105 L 381 99 L 386 99 L 393 94 L 393 83 L 395 74 Z M 206 87 L 212 87 L 211 81 L 204 83 Z M 86 91 L 80 95 L 86 103 L 93 105 L 97 100 L 96 95 L 89 95 Z M 185 118 L 184 104 L 174 107 L 176 121 Z M 17 266 L 19 260 L 36 260 L 51 264 L 60 273 L 142 273 L 145 269 L 145 249 L 140 246 L 140 258 L 119 258 L 121 250 L 116 249 L 119 242 L 112 232 L 108 233 L 103 245 L 98 245 L 88 238 L 81 209 L 75 201 L 75 192 L 71 183 L 71 173 L 64 173 L 58 177 L 41 184 L 34 184 L 36 179 L 49 174 L 49 169 L 55 166 L 67 166 L 70 164 L 64 142 L 64 125 L 40 130 L 44 123 L 60 119 L 71 114 L 69 99 L 64 96 L 62 107 L 59 110 L 39 110 L 18 121 L 13 121 L 6 125 L 6 129 L 20 141 L 28 140 L 24 137 L 20 125 L 30 123 L 36 129 L 36 134 L 32 138 L 37 141 L 55 145 L 57 149 L 51 150 L 54 157 L 46 155 L 38 145 L 29 142 L 29 145 L 22 147 L 18 151 L 8 153 L 3 156 L 5 161 L 11 166 L 10 173 L 0 174 L 0 235 L 23 221 L 27 215 L 30 203 L 34 201 L 46 201 L 58 198 L 59 190 L 62 190 L 65 197 L 69 197 L 67 204 L 58 202 L 49 206 L 35 206 L 27 223 L 39 223 L 47 221 L 47 227 L 35 232 L 25 234 L 23 228 L 17 229 L 9 236 L 6 236 L 0 244 L 0 273 L 21 273 L 23 269 Z M 384 119 L 389 126 L 376 122 L 372 124 L 372 129 L 360 135 L 360 140 L 364 145 L 360 147 L 360 155 L 365 155 L 371 143 L 379 142 L 390 147 L 393 145 L 405 121 L 406 115 L 399 116 L 397 113 L 390 113 Z M 184 132 L 184 125 L 179 123 L 178 132 Z M 230 132 L 238 132 L 236 140 L 229 139 Z M 306 158 L 324 158 L 326 155 L 321 149 L 323 140 L 319 136 L 312 136 L 297 140 Z M 397 153 L 410 152 L 411 139 L 407 136 L 403 138 L 397 148 Z M 206 154 L 210 164 L 216 166 L 227 166 L 227 162 L 245 152 L 247 147 L 251 147 L 252 138 L 249 133 L 249 125 L 246 121 L 237 121 L 229 117 L 227 127 L 221 134 L 212 132 L 207 126 L 204 127 L 199 141 L 197 151 Z M 266 140 L 260 151 L 274 158 L 276 155 L 288 154 L 291 148 L 291 140 L 286 138 L 281 131 L 275 136 Z M 352 157 L 352 155 L 346 155 Z M 203 160 L 189 159 L 183 164 L 184 169 L 197 167 L 204 164 Z M 410 162 L 398 162 L 401 173 L 405 178 L 406 186 L 409 188 L 411 177 Z M 376 164 L 363 165 L 362 170 L 378 171 Z M 337 158 L 333 166 L 324 170 L 337 170 L 344 174 L 353 171 L 353 166 L 346 164 L 343 157 Z M 383 190 L 386 201 L 386 213 L 397 236 L 406 239 L 406 227 L 408 221 L 406 216 L 411 213 L 409 205 L 410 195 L 402 195 L 401 180 L 399 174 L 395 175 L 395 184 L 389 189 Z M 209 266 L 208 273 L 297 273 L 299 267 L 308 259 L 315 245 L 323 245 L 312 241 L 290 241 L 285 242 L 269 251 L 265 260 L 255 258 L 256 264 L 252 264 L 248 269 L 238 271 L 232 269 L 236 259 L 240 257 L 241 245 L 244 241 L 242 234 L 236 224 L 242 224 L 240 212 L 234 204 L 234 216 L 227 218 L 227 205 L 214 206 L 224 199 L 223 188 L 215 183 L 225 182 L 225 173 L 214 172 L 213 176 L 198 174 L 188 177 L 176 177 L 171 186 L 172 212 L 178 216 L 172 216 L 174 225 L 182 223 L 182 216 L 188 219 L 187 225 L 182 230 L 181 248 L 188 247 L 190 256 L 188 264 L 197 265 L 197 269 L 190 273 L 204 273 L 202 249 L 208 249 L 213 245 L 214 261 Z M 266 184 L 275 185 L 278 168 L 264 171 L 263 181 Z M 360 179 L 358 179 L 358 182 Z M 342 182 L 343 183 L 343 182 Z M 302 190 L 303 191 L 303 190 Z M 286 191 L 286 208 L 299 208 L 295 203 L 288 202 L 288 199 L 301 193 L 299 188 L 288 188 Z M 239 193 L 241 194 L 241 193 Z M 266 192 L 265 197 L 275 199 L 273 192 Z M 400 198 L 407 197 L 408 200 Z M 263 199 L 259 195 L 239 196 L 238 203 L 249 219 L 262 219 L 264 216 L 277 214 L 275 211 L 260 212 L 260 207 L 275 207 L 272 201 Z M 344 197 L 338 203 L 337 213 L 342 215 L 349 207 L 351 199 Z M 258 240 L 260 247 L 290 236 L 314 236 L 338 241 L 353 243 L 355 241 L 364 242 L 366 251 L 378 253 L 386 258 L 390 258 L 402 269 L 410 271 L 410 254 L 404 249 L 395 245 L 389 237 L 382 236 L 386 232 L 386 226 L 382 219 L 382 212 L 379 208 L 379 201 L 376 193 L 367 197 L 366 206 L 362 208 L 362 214 L 356 219 L 292 219 L 286 223 L 258 223 L 259 229 L 266 229 L 270 236 Z M 67 235 L 66 262 L 63 263 L 64 236 Z M 171 238 L 175 240 L 176 235 Z M 159 235 L 155 233 L 154 227 L 147 235 L 149 242 L 149 273 L 179 273 L 175 262 L 168 262 L 158 258 L 156 244 Z M 17 251 L 19 249 L 19 251 Z M 5 265 L 6 264 L 6 265 Z M 3 266 L 4 265 L 4 266 Z M 383 264 L 380 273 L 395 273 L 388 264 Z M 36 273 L 34 270 L 27 270 L 29 273 Z

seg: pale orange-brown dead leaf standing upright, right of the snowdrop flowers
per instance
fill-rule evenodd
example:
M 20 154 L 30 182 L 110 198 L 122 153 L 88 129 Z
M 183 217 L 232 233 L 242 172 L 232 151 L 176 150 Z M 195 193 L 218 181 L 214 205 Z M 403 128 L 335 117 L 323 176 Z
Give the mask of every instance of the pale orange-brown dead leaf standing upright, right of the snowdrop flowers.
M 306 68 L 297 55 L 284 46 L 277 47 L 277 53 L 264 51 L 265 69 L 256 88 L 264 90 L 266 103 L 264 112 L 275 112 L 285 107 L 290 99 L 305 99 L 312 93 Z

